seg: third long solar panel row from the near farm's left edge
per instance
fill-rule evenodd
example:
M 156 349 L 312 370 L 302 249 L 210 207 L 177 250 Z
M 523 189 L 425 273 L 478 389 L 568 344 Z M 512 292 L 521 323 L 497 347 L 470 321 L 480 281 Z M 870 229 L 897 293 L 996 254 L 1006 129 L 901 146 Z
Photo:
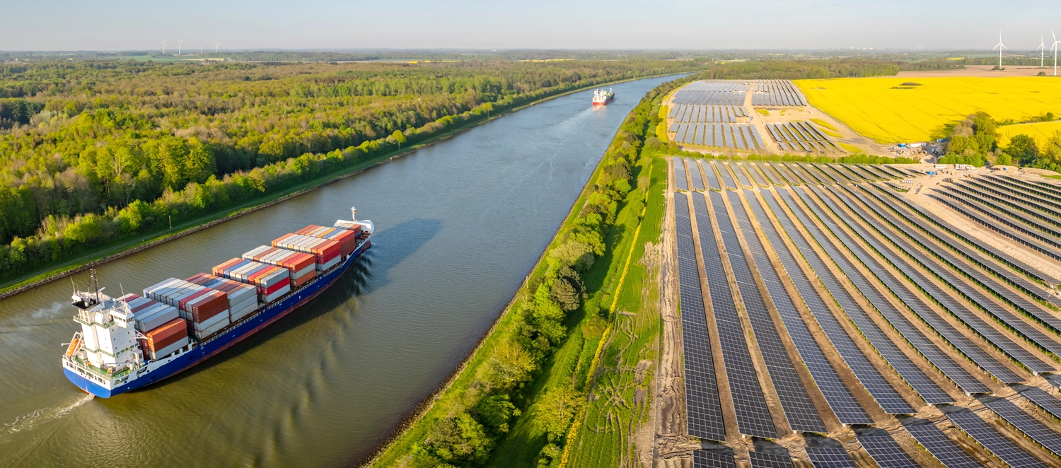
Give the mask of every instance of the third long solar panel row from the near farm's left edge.
M 748 314 L 748 322 L 751 324 L 751 328 L 755 334 L 755 342 L 759 345 L 763 362 L 766 364 L 770 382 L 773 384 L 775 391 L 777 391 L 781 409 L 784 410 L 785 418 L 788 420 L 788 426 L 793 431 L 828 432 L 824 422 L 818 416 L 818 411 L 815 409 L 814 402 L 803 387 L 803 382 L 800 380 L 799 374 L 796 372 L 796 367 L 788 357 L 788 351 L 781 341 L 778 329 L 773 325 L 773 319 L 770 317 L 766 302 L 763 300 L 763 296 L 755 283 L 751 266 L 748 264 L 748 258 L 744 256 L 744 252 L 741 248 L 737 231 L 744 235 L 748 248 L 752 253 L 755 267 L 760 271 L 760 276 L 764 278 L 764 283 L 767 281 L 765 279 L 767 276 L 776 277 L 777 272 L 773 271 L 772 263 L 766 257 L 766 252 L 763 249 L 759 238 L 755 237 L 754 227 L 751 225 L 748 213 L 744 210 L 741 197 L 736 192 L 727 191 L 726 194 L 729 196 L 730 206 L 733 208 L 732 212 L 737 219 L 738 230 L 734 230 L 729 215 L 725 211 L 720 211 L 725 207 L 719 207 L 718 204 L 714 203 L 715 196 L 712 196 L 712 206 L 715 209 L 715 215 L 718 218 L 718 230 L 725 242 L 726 254 L 729 256 L 733 276 L 736 278 L 737 290 L 741 292 L 744 308 Z M 717 194 L 713 193 L 712 195 Z M 720 203 L 720 197 L 718 202 Z M 777 282 L 780 284 L 780 278 L 777 278 Z M 778 294 L 783 293 L 779 292 Z M 787 305 L 778 307 L 785 306 Z M 720 332 L 721 330 L 719 330 Z

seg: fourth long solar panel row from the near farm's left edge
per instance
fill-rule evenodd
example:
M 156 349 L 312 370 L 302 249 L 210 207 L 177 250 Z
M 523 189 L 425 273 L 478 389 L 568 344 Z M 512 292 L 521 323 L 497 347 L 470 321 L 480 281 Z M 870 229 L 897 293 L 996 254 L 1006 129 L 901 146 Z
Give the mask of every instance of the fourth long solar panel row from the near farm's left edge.
M 788 229 L 792 223 L 783 212 L 779 211 L 777 201 L 773 200 L 773 193 L 764 191 L 763 195 L 773 212 L 777 213 L 779 221 Z M 755 214 L 755 219 L 759 220 L 759 225 L 763 228 L 763 232 L 766 235 L 770 245 L 773 246 L 773 250 L 778 254 L 778 258 L 781 260 L 784 270 L 788 272 L 789 277 L 798 278 L 799 283 L 808 285 L 810 282 L 797 263 L 796 257 L 794 257 L 788 246 L 782 241 L 780 233 L 775 229 L 773 224 L 767 218 L 766 211 L 759 204 L 759 201 L 754 197 L 748 197 L 747 200 L 748 205 Z M 785 223 L 788 224 L 786 225 Z M 750 239 L 751 237 L 749 236 L 748 238 Z M 843 384 L 843 381 L 836 374 L 836 369 L 833 368 L 832 363 L 825 358 L 818 342 L 811 334 L 811 330 L 803 322 L 802 315 L 796 309 L 794 301 L 799 299 L 789 296 L 781 278 L 770 274 L 770 272 L 771 270 L 769 268 L 760 271 L 763 274 L 763 282 L 766 283 L 766 288 L 770 292 L 770 298 L 778 309 L 778 315 L 781 316 L 785 329 L 788 331 L 789 336 L 792 336 L 793 344 L 796 345 L 800 359 L 802 359 L 807 371 L 814 378 L 818 389 L 825 397 L 829 408 L 836 414 L 840 423 L 872 424 L 873 419 L 869 417 L 858 401 L 855 400 L 854 395 Z M 800 290 L 800 294 L 803 294 L 803 291 L 805 290 Z

